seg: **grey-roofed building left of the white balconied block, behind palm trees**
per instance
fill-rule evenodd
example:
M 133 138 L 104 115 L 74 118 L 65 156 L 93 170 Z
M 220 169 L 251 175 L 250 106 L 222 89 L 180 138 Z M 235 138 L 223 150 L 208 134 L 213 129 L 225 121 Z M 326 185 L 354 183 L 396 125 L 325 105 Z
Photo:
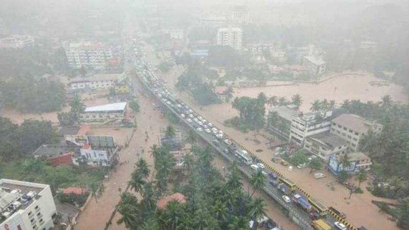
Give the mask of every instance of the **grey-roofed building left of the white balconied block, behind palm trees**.
M 296 105 L 287 105 L 271 108 L 267 115 L 267 129 L 288 140 L 290 137 L 291 120 L 298 116 L 301 111 Z

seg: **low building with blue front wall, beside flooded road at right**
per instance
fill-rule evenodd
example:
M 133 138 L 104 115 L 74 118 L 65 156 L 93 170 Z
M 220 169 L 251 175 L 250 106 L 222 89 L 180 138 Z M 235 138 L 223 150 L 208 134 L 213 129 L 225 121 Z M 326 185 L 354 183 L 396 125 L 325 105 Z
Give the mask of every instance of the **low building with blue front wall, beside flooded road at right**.
M 339 174 L 342 171 L 347 171 L 349 173 L 356 173 L 361 169 L 369 170 L 372 161 L 371 158 L 362 152 L 350 152 L 348 155 L 349 165 L 345 166 L 340 163 L 341 155 L 339 156 L 330 156 L 327 164 L 327 168 L 334 173 L 335 175 Z

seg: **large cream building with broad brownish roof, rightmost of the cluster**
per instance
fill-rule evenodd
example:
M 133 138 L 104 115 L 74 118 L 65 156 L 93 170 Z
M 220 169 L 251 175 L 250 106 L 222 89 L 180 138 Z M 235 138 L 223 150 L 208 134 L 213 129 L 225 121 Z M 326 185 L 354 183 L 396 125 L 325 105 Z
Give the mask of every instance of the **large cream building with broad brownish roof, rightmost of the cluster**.
M 348 148 L 357 151 L 359 141 L 369 132 L 379 135 L 383 126 L 355 114 L 342 114 L 331 122 L 331 134 L 335 134 L 348 142 Z

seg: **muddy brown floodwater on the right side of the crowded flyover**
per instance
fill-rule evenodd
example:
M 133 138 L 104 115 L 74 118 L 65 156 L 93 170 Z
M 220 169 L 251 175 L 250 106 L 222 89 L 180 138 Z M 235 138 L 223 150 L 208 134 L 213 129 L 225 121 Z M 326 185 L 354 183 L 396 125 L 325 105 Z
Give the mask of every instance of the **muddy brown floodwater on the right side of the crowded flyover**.
M 146 53 L 150 52 L 146 50 Z M 149 56 L 148 61 L 152 60 L 153 63 L 157 63 L 154 56 Z M 167 86 L 171 89 L 175 95 L 178 95 L 186 103 L 193 107 L 194 110 L 200 111 L 199 106 L 195 103 L 189 95 L 184 92 L 179 92 L 174 88 L 174 84 L 177 82 L 177 77 L 180 75 L 180 67 L 175 67 L 166 74 L 160 73 Z M 371 83 L 379 81 L 370 74 L 350 74 L 338 76 L 333 79 L 329 79 L 320 84 L 298 84 L 291 86 L 272 86 L 272 87 L 258 87 L 258 88 L 242 88 L 235 89 L 234 96 L 251 96 L 256 97 L 258 93 L 264 92 L 267 96 L 286 96 L 288 99 L 294 94 L 301 94 L 304 100 L 301 110 L 304 112 L 309 111 L 311 103 L 315 99 L 334 99 L 336 103 L 342 103 L 345 99 L 360 99 L 361 101 L 373 100 L 379 101 L 383 95 L 391 95 L 393 100 L 402 101 L 407 103 L 407 95 L 405 94 L 403 87 L 390 83 L 388 86 L 372 86 Z M 298 184 L 305 189 L 308 193 L 313 195 L 322 201 L 327 207 L 333 206 L 336 209 L 347 214 L 348 221 L 355 226 L 364 225 L 369 229 L 399 229 L 395 222 L 388 219 L 388 215 L 379 211 L 379 209 L 373 205 L 372 200 L 383 200 L 382 198 L 372 196 L 362 184 L 361 188 L 364 191 L 363 194 L 353 194 L 351 199 L 348 199 L 349 190 L 345 187 L 334 183 L 335 190 L 330 190 L 327 187 L 327 183 L 334 181 L 335 177 L 329 172 L 323 170 L 322 172 L 327 177 L 316 180 L 311 174 L 309 169 L 294 169 L 290 172 L 286 167 L 274 164 L 270 161 L 272 151 L 268 149 L 266 139 L 261 138 L 261 143 L 256 144 L 253 141 L 253 132 L 244 134 L 230 127 L 225 127 L 223 121 L 232 118 L 237 115 L 237 111 L 232 109 L 231 104 L 223 103 L 218 105 L 208 106 L 205 110 L 200 111 L 200 114 L 207 120 L 211 121 L 216 126 L 219 126 L 223 131 L 233 137 L 236 141 L 240 142 L 247 149 L 251 150 L 260 159 L 266 162 L 270 162 L 270 165 L 275 167 L 291 181 Z M 256 150 L 263 150 L 256 152 Z

